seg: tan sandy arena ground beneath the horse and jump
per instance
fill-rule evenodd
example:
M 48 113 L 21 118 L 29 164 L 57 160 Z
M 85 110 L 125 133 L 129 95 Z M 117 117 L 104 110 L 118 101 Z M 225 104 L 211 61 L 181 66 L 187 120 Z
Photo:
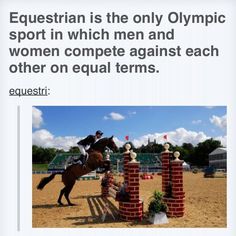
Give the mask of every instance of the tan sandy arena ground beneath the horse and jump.
M 203 178 L 202 173 L 184 173 L 185 215 L 169 218 L 168 224 L 152 225 L 146 217 L 142 222 L 124 222 L 118 217 L 118 203 L 108 199 L 113 213 L 102 222 L 104 200 L 100 197 L 99 180 L 77 181 L 70 199 L 76 206 L 58 206 L 57 198 L 63 187 L 60 176 L 42 191 L 36 186 L 45 175 L 33 175 L 32 227 L 64 228 L 124 228 L 124 227 L 226 227 L 226 178 Z M 121 177 L 117 177 L 117 180 Z M 140 180 L 140 198 L 144 201 L 144 212 L 153 191 L 161 190 L 161 176 L 152 180 Z M 66 204 L 65 199 L 63 202 Z

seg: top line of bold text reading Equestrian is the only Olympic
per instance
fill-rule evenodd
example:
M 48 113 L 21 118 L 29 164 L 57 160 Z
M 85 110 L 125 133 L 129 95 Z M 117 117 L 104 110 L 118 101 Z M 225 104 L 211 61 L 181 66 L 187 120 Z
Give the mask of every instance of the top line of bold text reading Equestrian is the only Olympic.
M 90 13 L 91 14 L 91 13 Z M 156 14 L 155 12 L 150 12 L 149 14 L 134 14 L 132 16 L 126 16 L 126 20 L 120 20 L 124 15 L 117 15 L 116 13 L 107 13 L 107 23 L 128 23 L 128 17 L 132 18 L 132 22 L 136 24 L 155 24 L 159 26 L 164 19 L 163 14 Z M 189 24 L 203 24 L 208 26 L 209 24 L 225 23 L 226 16 L 224 14 L 218 14 L 214 12 L 213 14 L 184 14 L 183 12 L 170 12 L 167 15 L 167 20 L 169 23 L 179 23 L 184 26 Z M 131 20 L 130 20 L 131 21 Z M 63 14 L 58 14 L 54 12 L 52 14 L 19 14 L 19 12 L 10 12 L 10 23 L 21 23 L 25 26 L 29 24 L 38 23 L 49 23 L 49 24 L 81 24 L 81 23 L 91 23 L 87 22 L 86 15 L 84 14 L 69 14 L 64 12 Z M 99 22 L 101 23 L 101 22 Z

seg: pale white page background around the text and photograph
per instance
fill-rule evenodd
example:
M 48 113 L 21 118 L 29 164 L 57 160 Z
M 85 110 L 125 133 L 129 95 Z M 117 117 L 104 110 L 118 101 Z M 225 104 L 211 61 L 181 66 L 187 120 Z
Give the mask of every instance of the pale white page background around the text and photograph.
M 85 13 L 94 11 L 105 13 L 116 11 L 130 14 L 155 11 L 166 14 L 170 11 L 183 11 L 191 14 L 209 14 L 215 11 L 225 14 L 227 21 L 222 25 L 211 25 L 185 28 L 181 25 L 163 25 L 167 29 L 175 27 L 175 42 L 161 42 L 163 46 L 209 46 L 214 44 L 220 49 L 216 58 L 157 58 L 149 59 L 150 63 L 159 65 L 159 74 L 109 74 L 93 75 L 86 78 L 81 75 L 47 75 L 17 74 L 8 72 L 8 66 L 14 61 L 8 55 L 8 47 L 13 43 L 8 40 L 8 32 L 16 29 L 9 24 L 9 12 L 52 13 L 65 12 Z M 235 3 L 234 1 L 2 1 L 0 8 L 1 33 L 1 235 L 71 235 L 110 233 L 135 233 L 136 235 L 233 235 L 236 233 L 236 191 L 235 191 Z M 32 26 L 32 29 L 37 26 Z M 50 26 L 52 27 L 52 26 Z M 49 27 L 49 28 L 50 28 Z M 59 27 L 58 25 L 56 27 Z M 68 27 L 68 26 L 66 26 Z M 74 26 L 75 27 L 75 26 Z M 131 26 L 127 26 L 131 27 Z M 143 29 L 146 26 L 137 26 Z M 40 28 L 40 27 L 39 27 Z M 71 26 L 71 28 L 73 28 Z M 17 28 L 18 29 L 18 28 Z M 24 29 L 23 26 L 19 29 Z M 30 28 L 28 27 L 27 30 Z M 149 28 L 145 29 L 148 30 Z M 66 30 L 66 28 L 62 28 Z M 39 42 L 37 45 L 60 46 L 62 44 L 78 47 L 78 42 Z M 114 42 L 99 42 L 108 46 Z M 119 46 L 130 44 L 148 46 L 148 42 L 120 42 Z M 157 42 L 158 44 L 158 42 Z M 23 45 L 33 45 L 25 42 Z M 86 43 L 84 44 L 86 45 Z M 42 59 L 50 62 L 52 59 Z M 59 59 L 53 59 L 59 62 Z M 107 59 L 106 59 L 107 60 Z M 36 62 L 32 58 L 30 61 Z M 90 59 L 74 59 L 72 63 L 88 62 Z M 114 60 L 116 61 L 116 60 Z M 101 61 L 102 62 L 102 61 Z M 104 61 L 105 62 L 105 61 Z M 130 63 L 129 58 L 123 60 Z M 135 63 L 135 61 L 133 61 Z M 138 62 L 138 61 L 136 61 Z M 44 87 L 51 88 L 51 96 L 44 98 L 9 97 L 10 87 Z M 32 105 L 200 105 L 227 106 L 227 228 L 224 229 L 34 229 L 32 228 Z M 21 109 L 21 145 L 20 145 L 20 230 L 17 230 L 17 106 Z M 219 189 L 220 191 L 220 189 Z M 201 216 L 199 216 L 201 217 Z M 129 232 L 128 232 L 129 231 Z

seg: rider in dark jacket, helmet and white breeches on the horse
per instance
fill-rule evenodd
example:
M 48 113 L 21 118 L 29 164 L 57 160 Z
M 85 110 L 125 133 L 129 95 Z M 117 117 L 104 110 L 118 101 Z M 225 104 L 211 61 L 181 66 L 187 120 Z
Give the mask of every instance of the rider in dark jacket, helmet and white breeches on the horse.
M 96 143 L 98 139 L 100 139 L 103 135 L 103 132 L 101 130 L 97 130 L 95 135 L 88 135 L 86 138 L 81 139 L 77 144 L 81 153 L 80 161 L 82 162 L 82 165 L 84 165 L 88 159 L 88 153 L 86 150 L 89 146 Z

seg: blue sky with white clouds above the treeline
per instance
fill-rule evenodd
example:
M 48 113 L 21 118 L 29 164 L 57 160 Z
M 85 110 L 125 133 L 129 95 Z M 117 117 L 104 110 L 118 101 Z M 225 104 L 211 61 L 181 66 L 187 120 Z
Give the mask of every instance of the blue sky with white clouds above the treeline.
M 226 146 L 225 106 L 37 106 L 32 108 L 33 144 L 68 150 L 96 130 L 114 135 L 118 146 L 125 136 L 136 147 L 150 141 L 197 145 L 208 138 Z

